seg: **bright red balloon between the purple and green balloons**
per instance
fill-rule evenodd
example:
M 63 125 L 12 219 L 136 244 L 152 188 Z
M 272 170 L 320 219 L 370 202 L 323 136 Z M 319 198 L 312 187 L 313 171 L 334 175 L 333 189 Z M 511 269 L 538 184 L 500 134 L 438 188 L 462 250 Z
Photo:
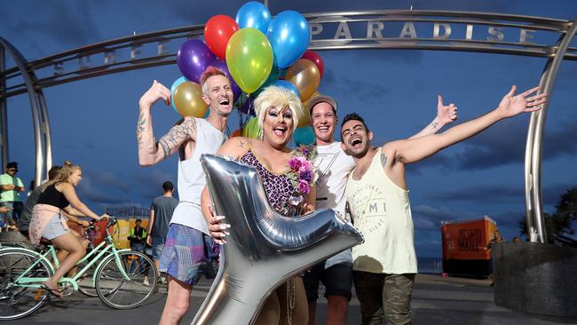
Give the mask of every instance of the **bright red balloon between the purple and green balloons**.
M 232 18 L 225 15 L 216 15 L 204 25 L 204 42 L 218 59 L 225 59 L 226 44 L 239 30 L 239 25 Z

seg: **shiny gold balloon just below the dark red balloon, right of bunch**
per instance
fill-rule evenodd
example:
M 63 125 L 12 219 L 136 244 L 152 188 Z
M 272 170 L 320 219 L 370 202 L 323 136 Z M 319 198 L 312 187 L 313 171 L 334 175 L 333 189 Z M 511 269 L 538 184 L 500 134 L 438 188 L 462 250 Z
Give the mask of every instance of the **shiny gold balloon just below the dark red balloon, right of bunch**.
M 320 72 L 314 62 L 308 59 L 299 59 L 287 69 L 285 77 L 290 83 L 296 85 L 301 94 L 301 101 L 310 99 L 320 84 Z

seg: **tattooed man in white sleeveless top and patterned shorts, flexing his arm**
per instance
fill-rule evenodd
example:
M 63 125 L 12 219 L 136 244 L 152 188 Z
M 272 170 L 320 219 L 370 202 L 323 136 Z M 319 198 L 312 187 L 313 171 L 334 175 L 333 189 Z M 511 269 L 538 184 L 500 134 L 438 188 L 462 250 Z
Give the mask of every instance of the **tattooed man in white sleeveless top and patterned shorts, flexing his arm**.
M 225 73 L 209 67 L 201 76 L 202 99 L 209 106 L 206 119 L 186 116 L 158 142 L 154 139 L 151 107 L 159 99 L 170 105 L 170 91 L 154 80 L 139 102 L 138 163 L 150 166 L 178 152 L 178 196 L 160 260 L 169 274 L 169 293 L 161 324 L 177 324 L 188 311 L 193 285 L 217 258 L 216 246 L 200 208 L 205 186 L 200 156 L 214 154 L 226 137 L 223 131 L 233 109 L 233 91 Z

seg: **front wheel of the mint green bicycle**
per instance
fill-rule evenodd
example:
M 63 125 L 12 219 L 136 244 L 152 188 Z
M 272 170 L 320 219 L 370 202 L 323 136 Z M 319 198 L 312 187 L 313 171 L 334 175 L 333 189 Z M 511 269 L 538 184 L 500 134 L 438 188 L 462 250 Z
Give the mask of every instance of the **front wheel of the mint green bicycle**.
M 152 259 L 138 251 L 107 257 L 96 274 L 96 291 L 103 303 L 116 309 L 142 305 L 152 296 L 158 278 Z M 128 278 L 123 276 L 123 268 Z

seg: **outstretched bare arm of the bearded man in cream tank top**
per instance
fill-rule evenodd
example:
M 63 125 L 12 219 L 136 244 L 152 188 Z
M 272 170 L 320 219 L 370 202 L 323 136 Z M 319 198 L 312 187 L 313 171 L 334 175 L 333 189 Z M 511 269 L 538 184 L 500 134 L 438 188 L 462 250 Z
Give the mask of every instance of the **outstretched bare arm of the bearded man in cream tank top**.
M 419 139 L 399 140 L 387 143 L 383 146 L 383 151 L 394 155 L 394 160 L 400 163 L 415 163 L 424 158 L 434 155 L 441 149 L 469 139 L 480 131 L 484 131 L 489 126 L 522 113 L 530 113 L 541 109 L 541 104 L 545 102 L 547 94 L 530 96 L 539 87 L 515 95 L 517 86 L 513 86 L 506 94 L 499 106 L 486 115 L 480 116 L 467 123 L 456 125 L 441 134 L 433 134 Z

